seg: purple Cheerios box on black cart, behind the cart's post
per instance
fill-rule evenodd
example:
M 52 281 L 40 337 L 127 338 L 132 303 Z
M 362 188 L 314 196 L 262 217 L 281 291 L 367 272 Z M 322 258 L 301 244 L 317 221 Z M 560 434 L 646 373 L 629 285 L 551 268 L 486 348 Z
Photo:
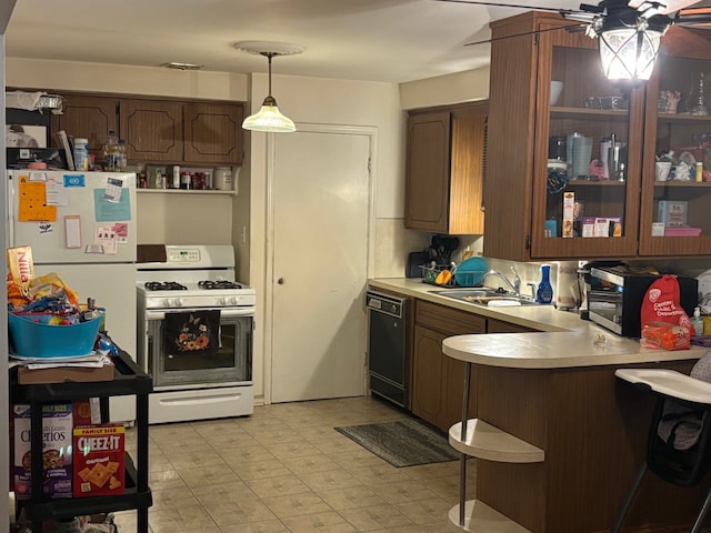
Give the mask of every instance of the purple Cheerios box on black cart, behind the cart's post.
M 14 465 L 13 482 L 18 500 L 30 497 L 31 440 L 30 406 L 14 405 Z M 72 476 L 71 404 L 42 405 L 42 472 L 44 494 L 50 497 L 71 497 Z

